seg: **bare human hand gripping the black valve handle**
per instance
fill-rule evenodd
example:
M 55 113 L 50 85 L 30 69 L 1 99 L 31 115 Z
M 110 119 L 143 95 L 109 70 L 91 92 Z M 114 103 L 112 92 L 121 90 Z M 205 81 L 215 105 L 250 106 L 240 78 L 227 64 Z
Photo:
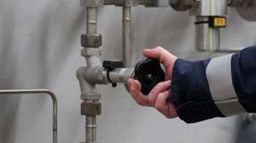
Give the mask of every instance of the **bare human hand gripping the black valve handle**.
M 159 60 L 165 66 L 166 81 L 158 83 L 146 96 L 140 92 L 142 88 L 141 83 L 130 78 L 128 79 L 130 94 L 141 106 L 153 106 L 168 118 L 177 117 L 175 107 L 172 105 L 172 98 L 170 98 L 172 69 L 177 57 L 161 47 L 144 49 L 143 54 L 148 58 Z

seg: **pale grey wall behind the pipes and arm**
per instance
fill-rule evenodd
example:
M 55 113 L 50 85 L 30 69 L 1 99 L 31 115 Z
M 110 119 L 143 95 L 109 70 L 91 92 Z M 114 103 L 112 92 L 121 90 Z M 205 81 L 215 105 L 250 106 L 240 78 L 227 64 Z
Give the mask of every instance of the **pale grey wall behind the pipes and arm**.
M 236 11 L 230 11 L 229 26 L 222 32 L 223 47 L 252 45 L 256 23 L 241 20 Z M 113 6 L 99 10 L 103 60 L 121 58 L 120 16 L 121 9 Z M 157 45 L 189 60 L 211 56 L 195 52 L 194 19 L 188 14 L 138 7 L 132 16 L 134 63 L 143 58 L 144 48 Z M 59 101 L 60 143 L 84 141 L 75 77 L 79 66 L 84 66 L 79 44 L 79 36 L 85 32 L 84 18 L 79 0 L 0 1 L 0 89 L 53 90 Z M 98 117 L 98 139 L 102 143 L 236 141 L 236 117 L 188 125 L 137 106 L 122 85 L 99 89 L 102 116 Z M 0 143 L 51 142 L 50 103 L 46 96 L 1 96 Z

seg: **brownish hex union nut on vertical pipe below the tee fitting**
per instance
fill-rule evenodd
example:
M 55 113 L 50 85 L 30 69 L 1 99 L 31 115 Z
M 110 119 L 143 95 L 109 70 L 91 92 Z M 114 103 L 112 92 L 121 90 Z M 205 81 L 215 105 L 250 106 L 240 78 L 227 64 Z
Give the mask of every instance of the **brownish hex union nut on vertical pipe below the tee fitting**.
M 100 102 L 87 102 L 81 104 L 81 115 L 96 116 L 102 113 L 102 104 Z

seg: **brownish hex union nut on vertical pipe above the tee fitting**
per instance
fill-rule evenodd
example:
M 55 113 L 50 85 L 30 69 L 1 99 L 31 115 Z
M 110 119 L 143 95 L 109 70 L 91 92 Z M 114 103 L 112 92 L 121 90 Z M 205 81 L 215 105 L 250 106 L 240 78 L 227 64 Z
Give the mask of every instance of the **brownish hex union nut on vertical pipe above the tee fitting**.
M 99 48 L 102 46 L 102 35 L 83 34 L 81 35 L 81 45 L 84 48 Z

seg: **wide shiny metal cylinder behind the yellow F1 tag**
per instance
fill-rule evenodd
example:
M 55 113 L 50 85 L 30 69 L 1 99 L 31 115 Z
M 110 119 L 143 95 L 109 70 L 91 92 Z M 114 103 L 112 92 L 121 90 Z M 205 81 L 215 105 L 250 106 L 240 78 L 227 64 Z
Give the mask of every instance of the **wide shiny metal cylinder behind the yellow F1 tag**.
M 196 22 L 209 21 L 209 16 L 224 16 L 227 13 L 226 0 L 204 0 L 195 10 Z M 220 49 L 220 29 L 207 23 L 195 25 L 195 49 L 198 51 L 217 52 Z

